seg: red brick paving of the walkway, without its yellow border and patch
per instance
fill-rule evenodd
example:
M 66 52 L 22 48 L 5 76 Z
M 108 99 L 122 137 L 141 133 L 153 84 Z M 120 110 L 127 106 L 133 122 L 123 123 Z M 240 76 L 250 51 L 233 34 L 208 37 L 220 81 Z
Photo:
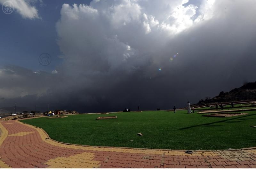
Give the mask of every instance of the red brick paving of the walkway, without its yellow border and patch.
M 92 160 L 100 161 L 100 168 L 256 168 L 256 149 L 253 148 L 197 152 L 196 156 L 185 153 L 183 155 L 183 152 L 182 155 L 168 155 L 168 152 L 145 154 L 71 149 L 44 142 L 35 128 L 25 124 L 16 121 L 0 123 L 8 131 L 8 135 L 33 132 L 24 136 L 7 136 L 4 139 L 0 146 L 0 160 L 12 168 L 46 168 L 48 165 L 45 163 L 50 159 L 68 158 L 83 152 L 93 153 Z M 173 154 L 175 152 L 173 151 Z M 172 151 L 170 150 L 169 153 Z

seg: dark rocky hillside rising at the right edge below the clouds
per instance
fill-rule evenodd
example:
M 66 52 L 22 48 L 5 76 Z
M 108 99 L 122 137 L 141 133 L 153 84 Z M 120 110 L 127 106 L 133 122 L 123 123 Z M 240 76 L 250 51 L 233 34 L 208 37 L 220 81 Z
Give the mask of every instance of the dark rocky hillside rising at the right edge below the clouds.
M 215 96 L 212 99 L 201 99 L 197 104 L 193 104 L 193 106 L 253 100 L 256 101 L 256 81 L 246 83 L 242 87 L 235 88 L 229 92 L 221 91 L 219 96 Z

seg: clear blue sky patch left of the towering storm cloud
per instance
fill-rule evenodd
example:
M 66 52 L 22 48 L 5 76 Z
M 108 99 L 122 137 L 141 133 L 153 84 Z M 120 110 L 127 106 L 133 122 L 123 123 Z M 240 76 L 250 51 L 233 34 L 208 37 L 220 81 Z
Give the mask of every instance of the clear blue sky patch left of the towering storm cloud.
M 52 1 L 44 0 L 44 4 L 36 2 L 36 7 L 41 19 L 22 18 L 14 11 L 6 15 L 0 12 L 1 39 L 0 41 L 0 66 L 18 65 L 34 71 L 44 70 L 51 72 L 61 63 L 59 46 L 56 43 L 56 22 L 60 19 L 62 4 L 90 4 L 90 0 Z M 42 66 L 38 62 L 41 53 L 49 53 L 52 62 Z

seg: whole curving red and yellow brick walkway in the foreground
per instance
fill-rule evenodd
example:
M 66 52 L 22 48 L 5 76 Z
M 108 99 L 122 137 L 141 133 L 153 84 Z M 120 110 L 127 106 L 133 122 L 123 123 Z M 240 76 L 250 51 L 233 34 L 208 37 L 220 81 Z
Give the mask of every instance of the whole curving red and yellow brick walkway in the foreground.
M 0 168 L 256 168 L 256 148 L 196 151 L 62 144 L 40 128 L 0 122 Z

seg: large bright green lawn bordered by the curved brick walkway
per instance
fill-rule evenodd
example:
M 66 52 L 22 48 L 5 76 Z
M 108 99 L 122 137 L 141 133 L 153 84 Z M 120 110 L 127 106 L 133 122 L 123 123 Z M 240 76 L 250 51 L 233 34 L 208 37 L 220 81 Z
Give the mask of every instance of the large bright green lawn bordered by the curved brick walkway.
M 155 149 L 213 150 L 256 146 L 256 111 L 236 117 L 202 117 L 187 110 L 68 115 L 20 120 L 43 128 L 57 141 Z M 117 116 L 117 119 L 96 120 Z M 143 133 L 143 136 L 137 136 Z

